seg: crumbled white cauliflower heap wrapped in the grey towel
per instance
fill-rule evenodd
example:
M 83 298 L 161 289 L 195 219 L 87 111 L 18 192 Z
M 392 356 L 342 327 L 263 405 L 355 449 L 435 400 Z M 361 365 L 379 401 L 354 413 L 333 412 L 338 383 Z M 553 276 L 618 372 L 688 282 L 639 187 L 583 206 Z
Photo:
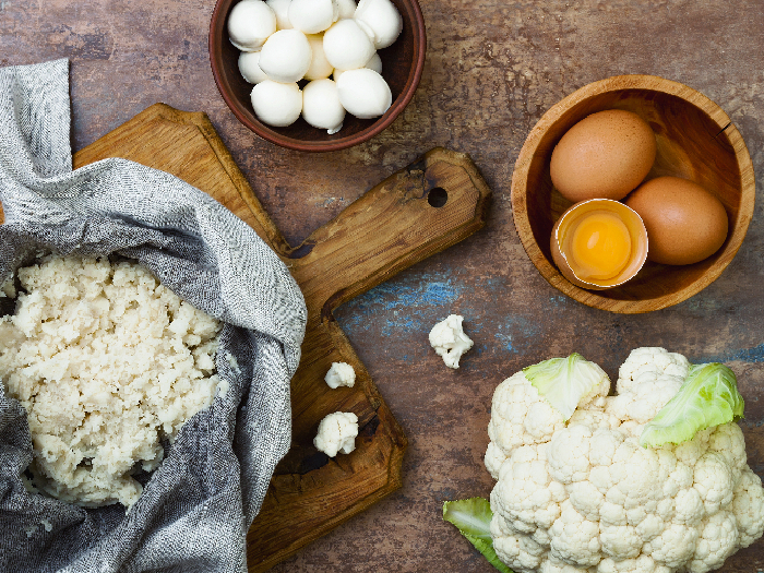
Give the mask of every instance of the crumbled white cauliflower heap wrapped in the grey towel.
M 220 323 L 133 262 L 49 255 L 17 272 L 0 321 L 0 378 L 26 409 L 40 491 L 132 505 L 132 477 L 207 406 Z

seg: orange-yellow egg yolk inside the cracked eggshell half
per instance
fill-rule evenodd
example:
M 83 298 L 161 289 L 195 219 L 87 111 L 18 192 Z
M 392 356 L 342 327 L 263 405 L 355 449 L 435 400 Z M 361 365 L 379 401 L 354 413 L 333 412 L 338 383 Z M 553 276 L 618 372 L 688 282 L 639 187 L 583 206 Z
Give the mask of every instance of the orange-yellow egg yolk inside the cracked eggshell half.
M 629 263 L 631 237 L 617 215 L 592 213 L 573 230 L 570 249 L 580 278 L 607 280 Z

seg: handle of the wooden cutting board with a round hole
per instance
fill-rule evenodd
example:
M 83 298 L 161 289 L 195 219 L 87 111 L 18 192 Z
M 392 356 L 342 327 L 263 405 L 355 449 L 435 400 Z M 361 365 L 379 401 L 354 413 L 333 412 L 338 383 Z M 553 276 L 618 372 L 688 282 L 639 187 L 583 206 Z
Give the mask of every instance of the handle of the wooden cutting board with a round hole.
M 392 175 L 294 249 L 293 274 L 321 312 L 455 244 L 486 224 L 490 189 L 442 147 Z

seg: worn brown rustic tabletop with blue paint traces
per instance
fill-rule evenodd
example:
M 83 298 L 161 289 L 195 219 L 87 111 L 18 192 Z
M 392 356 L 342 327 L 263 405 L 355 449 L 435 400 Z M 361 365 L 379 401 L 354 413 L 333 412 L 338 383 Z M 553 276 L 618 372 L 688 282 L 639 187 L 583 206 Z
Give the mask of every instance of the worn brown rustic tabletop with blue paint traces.
M 408 435 L 404 487 L 275 572 L 493 571 L 441 521 L 442 503 L 490 492 L 482 455 L 496 385 L 573 350 L 611 377 L 637 346 L 725 361 L 747 398 L 749 463 L 764 477 L 764 202 L 716 283 L 646 315 L 593 310 L 549 286 L 525 255 L 510 207 L 514 160 L 541 115 L 577 87 L 623 73 L 661 75 L 715 100 L 764 180 L 762 1 L 420 3 L 428 55 L 411 104 L 361 146 L 307 155 L 259 140 L 226 108 L 207 58 L 212 0 L 0 2 L 1 64 L 71 59 L 74 150 L 156 102 L 206 111 L 291 244 L 437 145 L 468 153 L 493 190 L 484 230 L 336 313 Z M 452 312 L 475 341 L 458 371 L 444 368 L 427 338 Z M 764 571 L 764 541 L 721 571 Z

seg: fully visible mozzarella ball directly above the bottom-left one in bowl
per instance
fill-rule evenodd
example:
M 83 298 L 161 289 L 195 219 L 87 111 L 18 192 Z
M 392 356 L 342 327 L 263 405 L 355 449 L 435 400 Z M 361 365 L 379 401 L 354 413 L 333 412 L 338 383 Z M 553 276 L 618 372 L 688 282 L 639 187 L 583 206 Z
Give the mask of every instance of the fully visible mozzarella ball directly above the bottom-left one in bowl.
M 313 58 L 310 41 L 299 29 L 279 29 L 260 51 L 260 69 L 274 82 L 302 80 Z

